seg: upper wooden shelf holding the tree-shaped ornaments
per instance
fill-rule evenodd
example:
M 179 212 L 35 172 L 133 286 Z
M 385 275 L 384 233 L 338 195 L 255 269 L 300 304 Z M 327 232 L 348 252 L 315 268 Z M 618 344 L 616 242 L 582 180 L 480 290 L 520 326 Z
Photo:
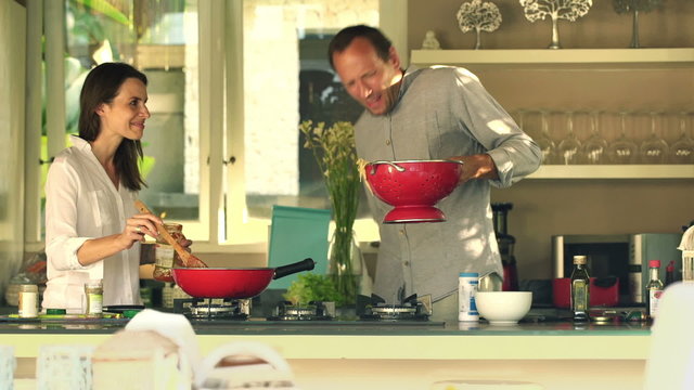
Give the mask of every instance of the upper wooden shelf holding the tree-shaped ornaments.
M 694 66 L 694 48 L 673 49 L 499 49 L 413 50 L 420 65 L 638 65 Z

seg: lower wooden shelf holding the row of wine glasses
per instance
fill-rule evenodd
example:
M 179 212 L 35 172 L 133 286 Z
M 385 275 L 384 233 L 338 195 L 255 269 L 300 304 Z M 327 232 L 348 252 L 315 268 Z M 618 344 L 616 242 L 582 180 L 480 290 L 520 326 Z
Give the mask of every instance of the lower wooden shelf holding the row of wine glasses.
M 545 165 L 528 179 L 694 179 L 694 165 Z

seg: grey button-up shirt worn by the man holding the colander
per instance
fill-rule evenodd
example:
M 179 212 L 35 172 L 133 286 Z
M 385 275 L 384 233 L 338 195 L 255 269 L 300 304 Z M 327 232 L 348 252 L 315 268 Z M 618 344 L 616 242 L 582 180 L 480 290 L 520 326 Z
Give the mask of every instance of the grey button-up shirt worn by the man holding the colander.
M 430 294 L 439 300 L 458 290 L 460 272 L 496 271 L 503 275 L 489 204 L 490 185 L 507 187 L 541 162 L 538 145 L 468 70 L 410 67 L 393 110 L 365 110 L 356 123 L 357 154 L 367 161 L 445 159 L 487 153 L 498 180 L 471 180 L 437 207 L 439 223 L 384 224 L 391 207 L 370 194 L 380 224 L 381 246 L 374 294 Z M 400 288 L 404 287 L 403 291 Z

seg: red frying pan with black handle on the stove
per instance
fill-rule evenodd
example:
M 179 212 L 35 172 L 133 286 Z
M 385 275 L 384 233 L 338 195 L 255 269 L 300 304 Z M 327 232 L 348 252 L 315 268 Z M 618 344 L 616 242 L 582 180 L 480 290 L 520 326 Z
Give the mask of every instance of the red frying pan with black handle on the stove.
M 306 259 L 278 268 L 180 268 L 172 269 L 174 280 L 193 298 L 253 298 L 265 291 L 270 282 L 316 266 Z

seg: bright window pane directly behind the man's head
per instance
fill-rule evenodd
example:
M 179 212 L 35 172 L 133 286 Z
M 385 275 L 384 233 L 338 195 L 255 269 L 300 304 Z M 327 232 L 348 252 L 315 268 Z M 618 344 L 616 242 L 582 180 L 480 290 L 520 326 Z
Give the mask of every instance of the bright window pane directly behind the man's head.
M 244 5 L 244 104 L 248 216 L 272 205 L 330 208 L 312 152 L 298 123 L 355 121 L 361 107 L 326 57 L 334 34 L 378 24 L 378 1 L 248 0 Z M 362 202 L 361 209 L 367 209 Z M 359 217 L 363 217 L 361 211 Z

